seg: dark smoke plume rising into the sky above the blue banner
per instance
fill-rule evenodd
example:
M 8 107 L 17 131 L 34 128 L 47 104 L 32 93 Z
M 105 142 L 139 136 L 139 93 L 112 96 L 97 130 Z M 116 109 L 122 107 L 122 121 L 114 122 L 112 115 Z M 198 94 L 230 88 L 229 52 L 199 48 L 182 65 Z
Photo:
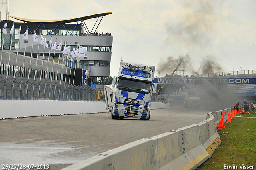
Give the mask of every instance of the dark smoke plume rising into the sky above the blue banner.
M 184 74 L 188 75 L 196 76 L 198 73 L 224 71 L 214 55 L 208 52 L 214 49 L 212 42 L 218 36 L 215 26 L 220 22 L 216 11 L 222 9 L 224 1 L 184 0 L 181 2 L 184 2 L 181 4 L 182 10 L 175 15 L 175 19 L 166 22 L 167 37 L 164 41 L 165 48 L 171 47 L 175 51 L 176 47 L 180 49 L 180 54 L 178 58 L 168 56 L 166 60 L 160 61 L 157 66 L 159 76 L 171 74 L 179 63 L 182 63 Z M 192 54 L 192 51 L 193 56 L 188 55 Z M 200 67 L 195 70 L 193 64 Z

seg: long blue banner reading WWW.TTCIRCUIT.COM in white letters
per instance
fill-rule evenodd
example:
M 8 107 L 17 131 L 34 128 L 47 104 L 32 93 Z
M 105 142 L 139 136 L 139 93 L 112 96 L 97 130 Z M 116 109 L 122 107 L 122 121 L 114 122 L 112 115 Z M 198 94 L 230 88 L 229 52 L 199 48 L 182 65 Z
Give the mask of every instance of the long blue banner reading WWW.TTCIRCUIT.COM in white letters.
M 154 78 L 156 84 L 256 84 L 256 78 Z

